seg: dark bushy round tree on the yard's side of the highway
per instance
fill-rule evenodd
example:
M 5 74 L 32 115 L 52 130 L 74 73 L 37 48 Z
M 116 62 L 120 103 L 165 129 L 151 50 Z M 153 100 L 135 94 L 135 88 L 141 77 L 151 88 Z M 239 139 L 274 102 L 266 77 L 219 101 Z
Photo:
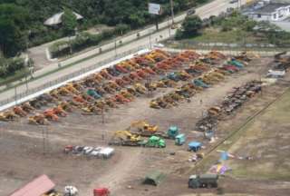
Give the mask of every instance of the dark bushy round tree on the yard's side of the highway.
M 202 21 L 198 15 L 189 15 L 182 23 L 184 36 L 195 36 L 202 27 Z

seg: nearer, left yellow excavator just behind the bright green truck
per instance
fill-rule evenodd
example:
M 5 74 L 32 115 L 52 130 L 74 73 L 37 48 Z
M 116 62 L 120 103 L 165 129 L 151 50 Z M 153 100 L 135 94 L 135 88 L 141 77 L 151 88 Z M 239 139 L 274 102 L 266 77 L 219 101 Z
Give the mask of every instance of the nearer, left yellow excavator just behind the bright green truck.
M 140 135 L 130 131 L 117 131 L 114 132 L 109 145 L 140 146 L 141 141 Z

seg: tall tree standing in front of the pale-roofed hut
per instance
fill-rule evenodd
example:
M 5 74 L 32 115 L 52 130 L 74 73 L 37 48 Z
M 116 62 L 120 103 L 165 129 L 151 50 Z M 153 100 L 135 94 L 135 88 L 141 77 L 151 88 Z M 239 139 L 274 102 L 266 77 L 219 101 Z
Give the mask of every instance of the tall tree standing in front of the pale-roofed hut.
M 63 34 L 65 35 L 73 35 L 76 26 L 78 25 L 76 15 L 73 14 L 73 11 L 70 9 L 65 9 L 63 16 Z

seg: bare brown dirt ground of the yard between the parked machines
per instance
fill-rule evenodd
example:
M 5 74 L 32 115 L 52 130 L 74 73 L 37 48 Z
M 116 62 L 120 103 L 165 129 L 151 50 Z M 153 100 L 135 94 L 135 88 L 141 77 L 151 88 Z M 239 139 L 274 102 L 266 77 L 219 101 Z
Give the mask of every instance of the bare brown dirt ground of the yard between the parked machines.
M 256 59 L 247 66 L 246 70 L 227 76 L 224 82 L 198 93 L 190 103 L 180 103 L 178 107 L 171 109 L 155 110 L 149 107 L 150 100 L 164 91 L 159 90 L 151 97 L 143 96 L 135 102 L 109 111 L 105 114 L 105 123 L 102 123 L 101 116 L 83 116 L 80 113 L 70 113 L 62 122 L 46 127 L 29 125 L 24 120 L 2 123 L 0 125 L 0 195 L 9 194 L 43 173 L 57 184 L 56 190 L 63 191 L 65 185 L 71 184 L 79 189 L 82 196 L 92 195 L 92 189 L 97 187 L 108 187 L 111 195 L 117 196 L 174 196 L 195 195 L 195 193 L 211 195 L 220 192 L 225 192 L 226 195 L 231 193 L 286 195 L 285 192 L 289 191 L 287 182 L 239 179 L 238 173 L 221 179 L 221 188 L 218 190 L 198 192 L 189 190 L 187 186 L 189 173 L 194 171 L 193 163 L 188 162 L 191 153 L 186 151 L 187 145 L 175 146 L 173 141 L 169 140 L 165 149 L 116 146 L 114 147 L 116 152 L 109 160 L 63 154 L 63 147 L 67 144 L 105 146 L 113 132 L 124 130 L 132 121 L 140 119 L 158 124 L 163 131 L 167 130 L 169 125 L 177 125 L 181 128 L 181 132 L 187 134 L 188 142 L 202 141 L 201 134 L 193 130 L 202 113 L 209 106 L 221 102 L 233 87 L 253 79 L 260 79 L 261 74 L 266 73 L 270 61 L 270 58 Z M 275 93 L 271 88 L 276 90 Z M 227 132 L 230 132 L 230 127 L 233 128 L 247 120 L 249 115 L 263 108 L 285 88 L 286 85 L 283 83 L 266 87 L 269 90 L 263 92 L 263 96 L 257 96 L 246 103 L 245 109 L 241 109 L 225 122 L 220 123 L 220 127 L 225 129 L 219 129 L 222 131 L 218 132 L 218 138 L 222 140 Z M 251 108 L 254 104 L 256 107 Z M 102 134 L 105 136 L 104 140 Z M 208 144 L 208 149 L 210 145 Z M 271 146 L 275 147 L 274 143 Z M 170 152 L 176 154 L 170 155 Z M 204 162 L 205 167 L 201 167 L 200 171 L 205 170 L 209 164 L 208 161 Z M 166 179 L 157 187 L 142 185 L 144 175 L 152 170 L 163 171 Z M 243 188 L 245 186 L 247 189 Z M 277 187 L 285 187 L 285 189 L 281 188 L 281 191 L 276 189 Z

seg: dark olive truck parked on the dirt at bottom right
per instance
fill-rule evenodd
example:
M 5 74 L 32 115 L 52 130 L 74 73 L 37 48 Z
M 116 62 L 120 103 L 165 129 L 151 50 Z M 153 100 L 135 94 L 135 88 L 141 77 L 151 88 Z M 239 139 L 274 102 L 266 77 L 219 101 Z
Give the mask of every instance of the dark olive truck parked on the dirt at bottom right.
M 213 188 L 218 187 L 218 174 L 191 175 L 189 177 L 189 188 Z

